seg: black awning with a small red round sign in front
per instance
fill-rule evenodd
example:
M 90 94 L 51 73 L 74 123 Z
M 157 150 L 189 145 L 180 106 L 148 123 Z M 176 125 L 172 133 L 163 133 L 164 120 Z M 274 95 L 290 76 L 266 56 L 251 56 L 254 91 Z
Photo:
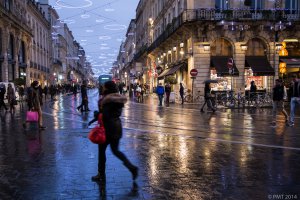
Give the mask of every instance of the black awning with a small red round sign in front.
M 229 69 L 227 67 L 227 62 L 229 56 L 212 56 L 211 57 L 211 67 L 214 68 L 218 76 L 239 76 L 239 70 L 236 68 L 233 62 L 233 74 L 229 74 Z

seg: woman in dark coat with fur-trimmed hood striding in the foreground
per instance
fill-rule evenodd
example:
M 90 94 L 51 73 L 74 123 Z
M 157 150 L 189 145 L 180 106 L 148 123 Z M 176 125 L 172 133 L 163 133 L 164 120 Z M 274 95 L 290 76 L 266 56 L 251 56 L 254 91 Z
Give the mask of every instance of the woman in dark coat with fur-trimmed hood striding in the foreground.
M 105 144 L 98 145 L 98 174 L 92 177 L 92 181 L 106 181 L 105 152 L 108 145 L 110 145 L 112 153 L 123 161 L 123 164 L 131 172 L 132 179 L 135 180 L 138 176 L 138 168 L 119 150 L 120 139 L 122 138 L 122 123 L 120 116 L 127 99 L 124 95 L 119 94 L 117 85 L 113 81 L 104 83 L 103 93 L 104 97 L 101 100 L 99 111 L 102 111 L 106 142 Z

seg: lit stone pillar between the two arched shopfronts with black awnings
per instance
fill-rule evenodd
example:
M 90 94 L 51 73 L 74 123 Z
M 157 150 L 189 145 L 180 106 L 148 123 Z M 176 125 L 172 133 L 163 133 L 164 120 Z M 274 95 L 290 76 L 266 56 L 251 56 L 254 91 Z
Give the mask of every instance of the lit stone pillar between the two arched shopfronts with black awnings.
M 236 68 L 239 70 L 239 77 L 234 77 L 233 80 L 233 90 L 235 92 L 245 92 L 245 56 L 246 51 L 242 50 L 241 43 L 235 43 L 235 54 L 233 59 L 236 65 Z

